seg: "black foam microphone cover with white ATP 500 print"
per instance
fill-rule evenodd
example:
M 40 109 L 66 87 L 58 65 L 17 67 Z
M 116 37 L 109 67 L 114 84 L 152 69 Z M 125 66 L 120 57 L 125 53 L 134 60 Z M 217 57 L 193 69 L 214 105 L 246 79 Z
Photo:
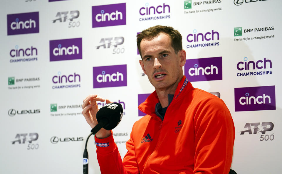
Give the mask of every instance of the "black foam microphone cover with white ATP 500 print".
M 103 126 L 106 130 L 114 129 L 121 121 L 123 115 L 122 105 L 119 103 L 108 103 L 99 109 L 96 114 L 98 123 L 102 119 L 107 119 L 108 124 Z

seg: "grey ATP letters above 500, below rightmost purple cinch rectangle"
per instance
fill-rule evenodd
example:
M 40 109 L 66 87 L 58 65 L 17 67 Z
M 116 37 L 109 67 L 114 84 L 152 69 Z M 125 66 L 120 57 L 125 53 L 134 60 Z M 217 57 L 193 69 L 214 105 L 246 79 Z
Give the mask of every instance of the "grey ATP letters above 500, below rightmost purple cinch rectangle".
M 252 128 L 251 126 L 254 126 L 254 128 Z M 258 132 L 265 134 L 266 131 L 272 131 L 273 127 L 274 124 L 272 122 L 246 123 L 244 128 L 246 128 L 247 130 L 240 131 L 240 135 L 244 135 L 245 133 L 256 134 Z M 253 133 L 252 130 L 254 130 Z

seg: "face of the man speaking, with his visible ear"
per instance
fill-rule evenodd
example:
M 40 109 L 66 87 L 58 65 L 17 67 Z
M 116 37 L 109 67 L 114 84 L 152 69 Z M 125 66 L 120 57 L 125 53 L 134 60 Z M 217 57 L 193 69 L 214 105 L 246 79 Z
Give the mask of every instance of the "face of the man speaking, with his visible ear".
M 182 79 L 186 53 L 180 50 L 175 54 L 167 34 L 160 33 L 150 40 L 142 39 L 140 50 L 143 58 L 139 60 L 140 65 L 156 90 L 169 89 Z

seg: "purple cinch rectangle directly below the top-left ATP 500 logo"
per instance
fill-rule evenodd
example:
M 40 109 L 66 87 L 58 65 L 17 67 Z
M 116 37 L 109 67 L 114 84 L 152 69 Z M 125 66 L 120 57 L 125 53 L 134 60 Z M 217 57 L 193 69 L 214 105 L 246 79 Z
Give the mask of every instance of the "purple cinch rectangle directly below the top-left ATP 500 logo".
M 82 39 L 50 40 L 50 62 L 82 59 Z

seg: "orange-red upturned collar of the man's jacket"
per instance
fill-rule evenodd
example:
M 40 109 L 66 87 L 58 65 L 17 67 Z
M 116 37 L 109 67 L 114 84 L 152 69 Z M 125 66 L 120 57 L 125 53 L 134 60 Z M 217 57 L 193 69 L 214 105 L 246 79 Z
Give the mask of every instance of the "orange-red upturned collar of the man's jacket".
M 189 87 L 186 87 L 188 84 Z M 186 88 L 185 88 L 186 87 Z M 187 78 L 185 76 L 182 77 L 181 81 L 178 83 L 178 86 L 175 90 L 173 100 L 177 99 L 177 97 L 181 94 L 181 92 L 184 89 L 190 89 L 193 88 L 192 84 L 188 82 Z M 154 91 L 152 94 L 150 94 L 145 102 L 141 103 L 138 106 L 138 109 L 145 114 L 151 115 L 151 116 L 157 116 L 155 113 L 155 106 L 159 102 L 159 98 L 157 96 L 157 92 Z M 172 101 L 173 102 L 173 101 Z M 157 116 L 158 117 L 158 116 Z

